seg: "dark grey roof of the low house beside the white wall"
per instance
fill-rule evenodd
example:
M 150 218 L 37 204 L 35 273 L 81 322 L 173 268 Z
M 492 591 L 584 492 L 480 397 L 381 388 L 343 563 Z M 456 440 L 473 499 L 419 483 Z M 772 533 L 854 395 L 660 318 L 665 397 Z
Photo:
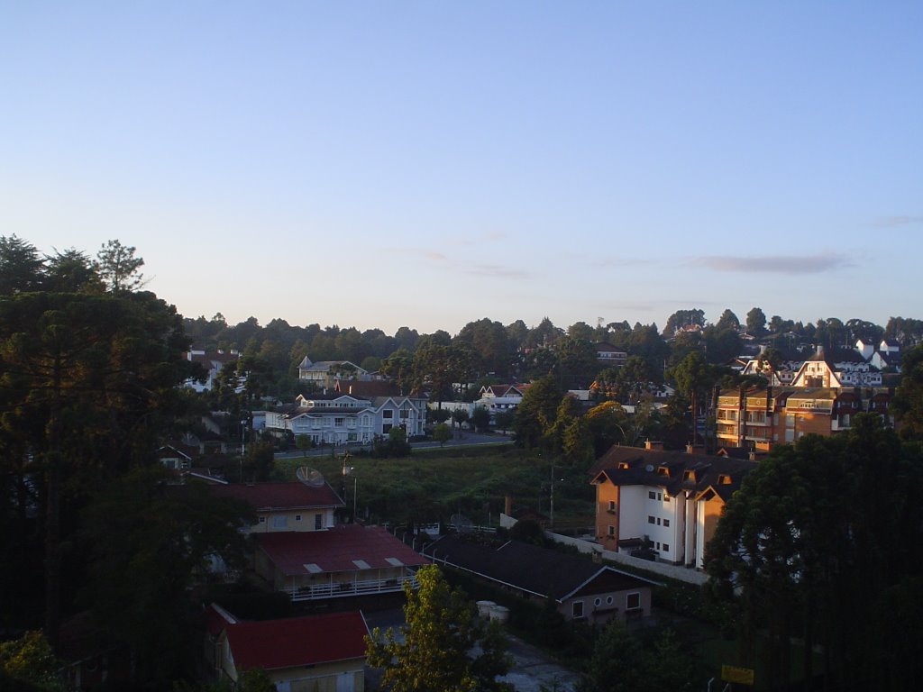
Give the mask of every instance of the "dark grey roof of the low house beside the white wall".
M 578 591 L 605 593 L 650 587 L 655 582 L 580 555 L 568 555 L 529 543 L 509 541 L 499 547 L 458 534 L 429 543 L 423 554 L 434 562 L 509 585 L 537 596 L 562 601 Z

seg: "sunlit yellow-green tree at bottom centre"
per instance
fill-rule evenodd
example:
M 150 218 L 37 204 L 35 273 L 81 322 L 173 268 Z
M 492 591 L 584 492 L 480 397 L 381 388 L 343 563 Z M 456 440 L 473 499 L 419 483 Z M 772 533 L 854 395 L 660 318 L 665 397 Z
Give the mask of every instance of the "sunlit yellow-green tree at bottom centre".
M 436 565 L 421 567 L 416 576 L 419 590 L 404 589 L 403 640 L 390 629 L 366 638 L 368 664 L 384 669 L 382 686 L 391 692 L 509 690 L 497 681 L 509 669 L 497 624 L 484 626 L 473 603 L 450 588 Z

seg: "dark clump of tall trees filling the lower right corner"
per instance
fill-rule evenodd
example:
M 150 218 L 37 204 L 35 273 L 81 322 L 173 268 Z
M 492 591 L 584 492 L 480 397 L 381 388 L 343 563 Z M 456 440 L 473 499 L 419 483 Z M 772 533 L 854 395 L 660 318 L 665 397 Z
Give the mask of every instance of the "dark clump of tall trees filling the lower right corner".
M 923 673 L 923 458 L 872 415 L 846 435 L 778 447 L 732 496 L 708 546 L 708 591 L 752 661 L 764 638 L 770 689 L 784 689 L 791 642 L 823 651 L 827 684 L 915 688 Z

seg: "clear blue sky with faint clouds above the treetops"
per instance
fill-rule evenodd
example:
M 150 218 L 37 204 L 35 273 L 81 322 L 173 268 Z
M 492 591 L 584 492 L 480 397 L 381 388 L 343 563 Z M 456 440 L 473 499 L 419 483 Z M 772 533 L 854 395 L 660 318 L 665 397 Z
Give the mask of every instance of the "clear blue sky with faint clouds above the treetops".
M 185 316 L 923 318 L 923 3 L 0 0 L 0 235 Z

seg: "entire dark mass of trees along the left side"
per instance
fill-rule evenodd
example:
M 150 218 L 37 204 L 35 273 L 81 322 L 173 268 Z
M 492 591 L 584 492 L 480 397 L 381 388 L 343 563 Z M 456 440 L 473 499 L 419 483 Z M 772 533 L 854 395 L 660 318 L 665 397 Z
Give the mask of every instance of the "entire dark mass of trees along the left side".
M 142 265 L 118 241 L 42 257 L 0 238 L 0 626 L 41 626 L 54 648 L 86 610 L 138 686 L 162 688 L 194 651 L 180 594 L 208 555 L 239 562 L 249 510 L 168 483 L 157 450 L 196 373 Z

